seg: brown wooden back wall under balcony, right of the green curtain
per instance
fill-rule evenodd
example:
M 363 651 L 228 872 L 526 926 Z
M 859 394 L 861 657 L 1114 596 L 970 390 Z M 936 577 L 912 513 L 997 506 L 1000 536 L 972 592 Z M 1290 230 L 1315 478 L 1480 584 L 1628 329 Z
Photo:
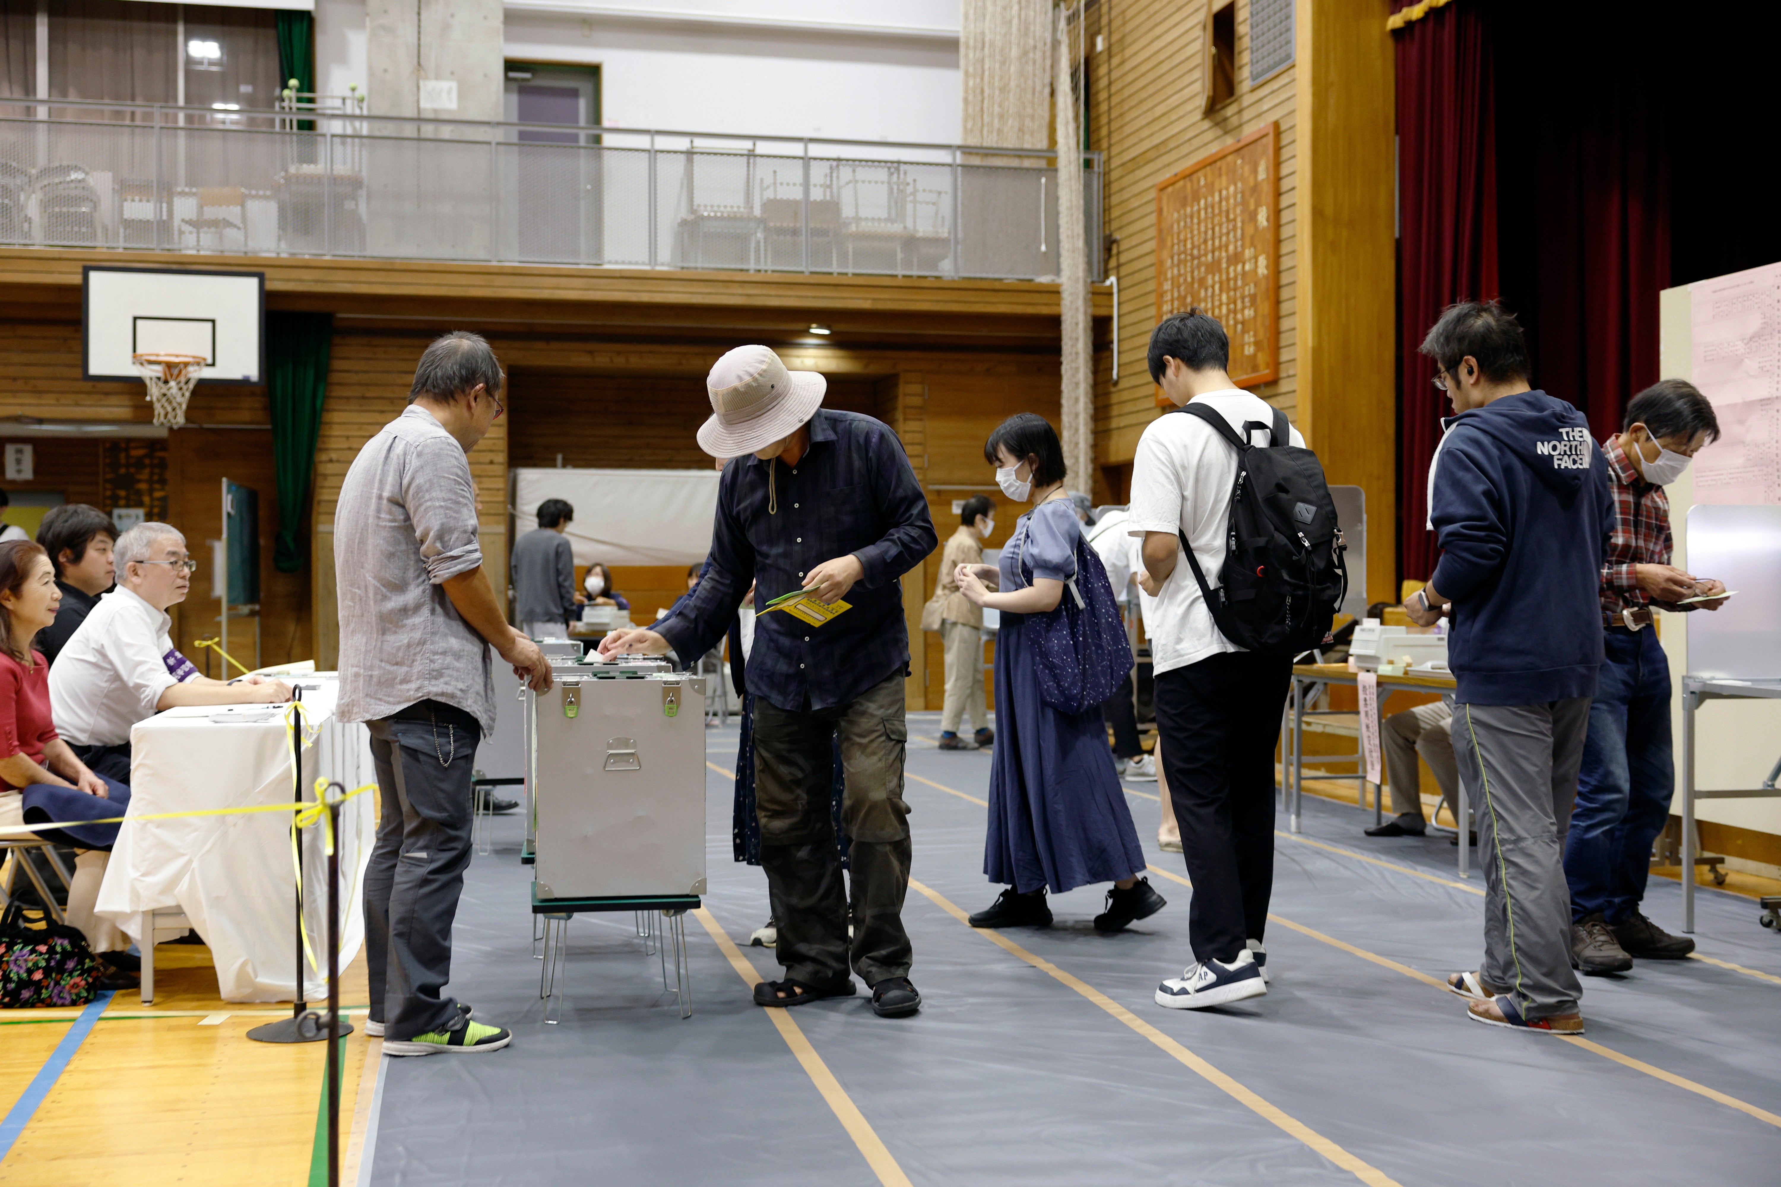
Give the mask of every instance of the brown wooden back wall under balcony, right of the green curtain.
M 317 448 L 319 543 L 331 541 L 333 509 L 346 468 L 365 438 L 401 411 L 415 359 L 429 338 L 422 331 L 337 324 Z M 472 473 L 483 493 L 483 543 L 493 575 L 506 571 L 509 466 L 554 466 L 559 452 L 563 464 L 582 466 L 711 464 L 693 432 L 709 413 L 703 375 L 714 347 L 499 331 L 488 338 L 511 375 L 508 416 L 495 422 L 495 432 L 472 454 Z M 928 489 L 942 539 L 958 525 L 953 500 L 967 493 L 996 497 L 997 537 L 1006 539 L 1019 511 L 996 491 L 992 472 L 983 463 L 983 440 L 1015 411 L 1037 411 L 1056 420 L 1056 352 L 823 345 L 789 347 L 782 358 L 796 370 L 823 372 L 830 381 L 832 408 L 871 413 L 896 429 L 917 479 Z M 912 708 L 939 708 L 944 690 L 939 635 L 924 641 L 919 630 L 921 605 L 933 591 L 937 564 L 939 553 L 903 582 L 914 644 Z M 639 621 L 675 593 L 673 582 L 655 569 L 620 568 L 613 578 L 632 600 Z M 331 552 L 326 548 L 317 550 L 313 605 L 317 662 L 331 664 L 338 628 L 333 619 Z

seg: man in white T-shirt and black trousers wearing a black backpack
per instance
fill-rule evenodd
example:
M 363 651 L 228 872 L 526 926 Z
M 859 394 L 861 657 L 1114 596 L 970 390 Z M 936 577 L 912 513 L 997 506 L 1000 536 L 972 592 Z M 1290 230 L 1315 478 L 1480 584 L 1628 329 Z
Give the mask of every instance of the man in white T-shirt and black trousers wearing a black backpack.
M 1151 377 L 1181 408 L 1143 431 L 1131 475 L 1156 728 L 1193 879 L 1195 963 L 1156 991 L 1170 1009 L 1268 991 L 1281 708 L 1293 655 L 1323 639 L 1341 600 L 1323 470 L 1282 413 L 1231 383 L 1229 356 L 1200 310 L 1156 327 Z

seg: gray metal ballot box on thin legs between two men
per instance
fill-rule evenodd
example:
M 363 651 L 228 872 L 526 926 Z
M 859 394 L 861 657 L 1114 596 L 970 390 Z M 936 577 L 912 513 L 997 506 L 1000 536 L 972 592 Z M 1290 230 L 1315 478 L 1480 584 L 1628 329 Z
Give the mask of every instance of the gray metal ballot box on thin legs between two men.
M 525 692 L 533 956 L 543 961 L 545 1021 L 561 1013 L 568 922 L 623 911 L 687 1018 L 686 913 L 705 893 L 702 682 L 661 660 L 552 658 L 552 674 L 549 692 Z

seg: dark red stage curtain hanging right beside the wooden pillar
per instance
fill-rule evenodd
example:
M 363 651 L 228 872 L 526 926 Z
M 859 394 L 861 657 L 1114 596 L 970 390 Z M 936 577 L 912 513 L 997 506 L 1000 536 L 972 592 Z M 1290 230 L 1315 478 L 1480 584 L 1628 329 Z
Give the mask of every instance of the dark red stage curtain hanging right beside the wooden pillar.
M 1393 11 L 1411 0 L 1393 0 Z M 1398 57 L 1398 573 L 1435 568 L 1428 457 L 1450 408 L 1416 352 L 1441 310 L 1498 295 L 1496 103 L 1484 5 L 1459 0 L 1393 34 Z M 1378 525 L 1375 530 L 1380 530 Z

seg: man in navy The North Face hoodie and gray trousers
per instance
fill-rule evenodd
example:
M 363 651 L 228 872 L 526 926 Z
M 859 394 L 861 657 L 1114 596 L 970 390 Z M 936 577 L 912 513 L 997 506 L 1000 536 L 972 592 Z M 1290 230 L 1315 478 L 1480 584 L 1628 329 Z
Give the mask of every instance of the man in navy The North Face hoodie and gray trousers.
M 1494 301 L 1450 306 L 1421 352 L 1455 415 L 1428 475 L 1443 557 L 1405 610 L 1453 619 L 1453 756 L 1485 881 L 1484 965 L 1448 988 L 1478 1021 L 1582 1034 L 1562 854 L 1603 657 L 1606 463 L 1580 411 L 1528 388 Z

